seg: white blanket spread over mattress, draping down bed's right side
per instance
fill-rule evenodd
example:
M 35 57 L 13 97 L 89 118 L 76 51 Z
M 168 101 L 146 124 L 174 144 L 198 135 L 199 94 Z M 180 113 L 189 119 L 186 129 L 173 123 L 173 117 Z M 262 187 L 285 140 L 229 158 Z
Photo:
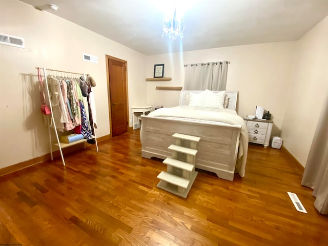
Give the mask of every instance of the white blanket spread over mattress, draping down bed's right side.
M 180 119 L 215 121 L 235 126 L 241 126 L 237 168 L 238 173 L 241 177 L 245 175 L 245 166 L 248 151 L 248 130 L 247 126 L 244 123 L 244 120 L 237 115 L 236 111 L 230 109 L 177 106 L 173 108 L 160 108 L 151 112 L 148 115 L 154 117 L 174 117 Z

